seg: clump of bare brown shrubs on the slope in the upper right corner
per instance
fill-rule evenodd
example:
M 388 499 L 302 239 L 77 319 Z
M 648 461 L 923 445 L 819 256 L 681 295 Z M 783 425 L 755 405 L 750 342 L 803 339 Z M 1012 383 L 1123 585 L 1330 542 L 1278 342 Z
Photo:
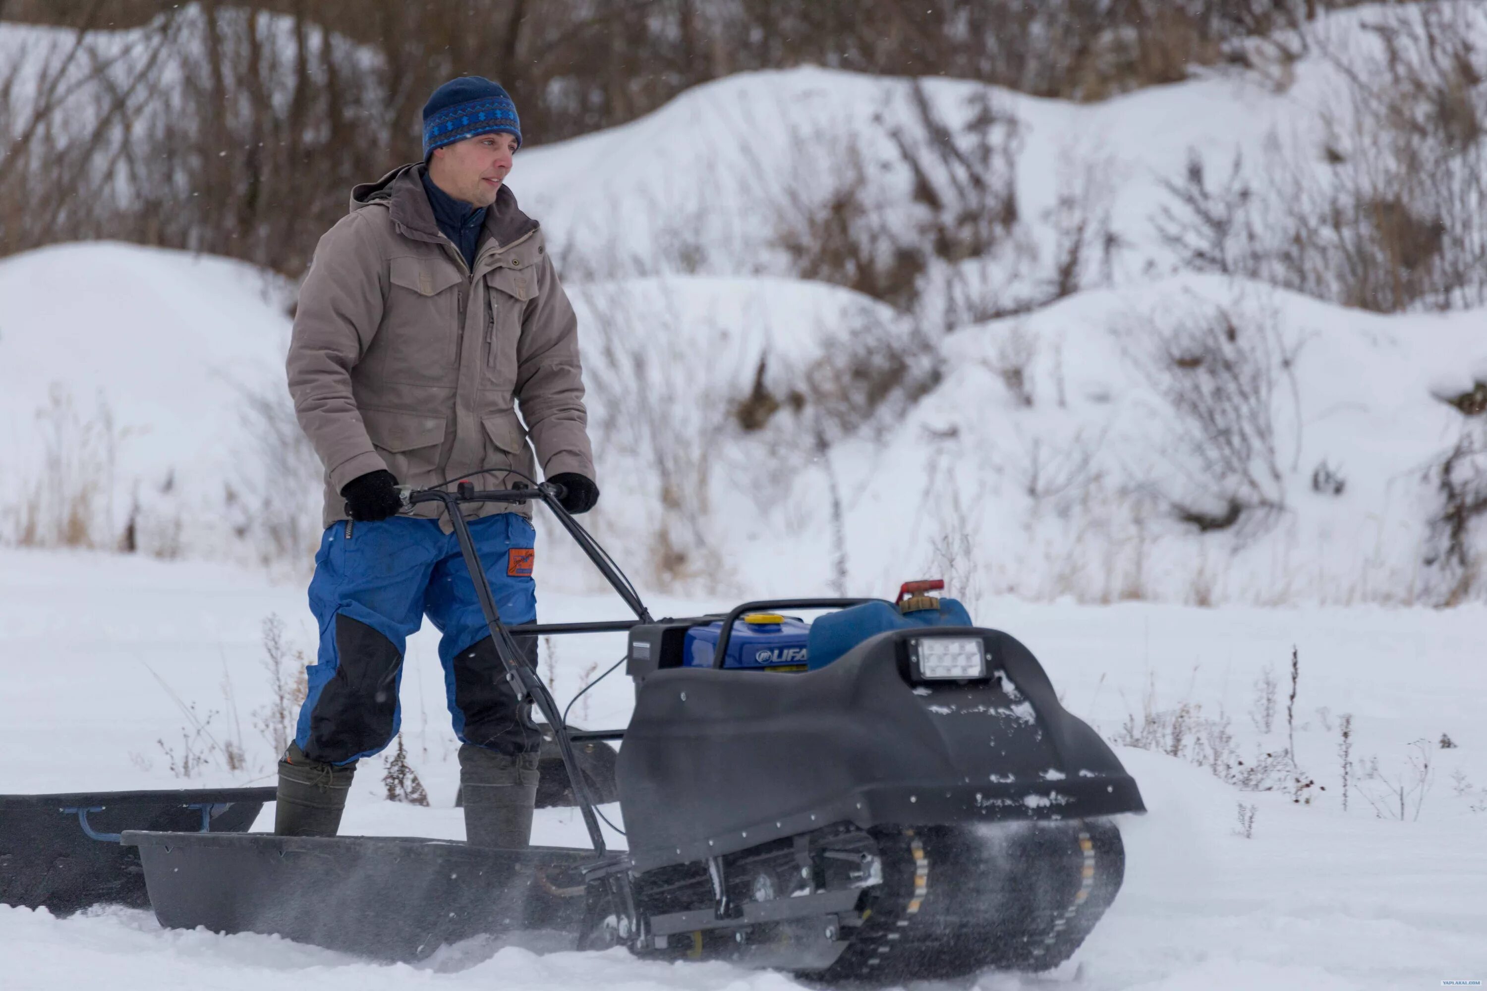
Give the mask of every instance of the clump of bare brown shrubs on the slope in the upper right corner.
M 1367 27 L 1323 43 L 1343 92 L 1304 138 L 1271 141 L 1264 180 L 1236 155 L 1213 183 L 1193 152 L 1163 183 L 1152 224 L 1179 266 L 1386 313 L 1487 303 L 1481 12 L 1396 4 Z

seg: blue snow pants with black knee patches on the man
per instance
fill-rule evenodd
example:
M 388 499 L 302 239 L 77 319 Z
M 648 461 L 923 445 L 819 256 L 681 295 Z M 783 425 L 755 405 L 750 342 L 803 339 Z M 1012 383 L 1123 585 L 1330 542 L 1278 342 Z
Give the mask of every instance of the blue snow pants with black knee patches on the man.
M 501 621 L 537 620 L 532 524 L 500 513 L 470 522 Z M 294 741 L 312 761 L 351 764 L 391 743 L 401 722 L 397 691 L 407 637 L 424 614 L 443 633 L 445 695 L 462 743 L 519 755 L 541 738 L 506 680 L 454 533 L 434 520 L 391 517 L 330 526 L 315 554 L 309 608 L 320 652 Z M 517 637 L 537 664 L 537 637 Z

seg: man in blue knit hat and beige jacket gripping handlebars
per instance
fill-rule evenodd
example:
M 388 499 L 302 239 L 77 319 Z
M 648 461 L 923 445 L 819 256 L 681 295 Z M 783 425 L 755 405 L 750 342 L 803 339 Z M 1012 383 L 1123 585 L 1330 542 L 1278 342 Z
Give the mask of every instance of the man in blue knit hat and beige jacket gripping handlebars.
M 570 513 L 599 498 L 577 321 L 541 229 L 506 187 L 520 143 L 497 83 L 465 76 L 436 89 L 424 162 L 351 192 L 300 290 L 288 389 L 326 467 L 327 529 L 309 585 L 320 652 L 280 762 L 281 835 L 335 835 L 357 761 L 397 734 L 404 643 L 428 614 L 462 743 L 465 836 L 529 839 L 540 737 L 506 682 L 448 520 L 437 504 L 400 513 L 397 492 L 458 478 L 509 487 L 534 480 L 540 462 Z M 537 618 L 529 514 L 467 513 L 512 624 Z M 535 664 L 535 637 L 525 640 Z

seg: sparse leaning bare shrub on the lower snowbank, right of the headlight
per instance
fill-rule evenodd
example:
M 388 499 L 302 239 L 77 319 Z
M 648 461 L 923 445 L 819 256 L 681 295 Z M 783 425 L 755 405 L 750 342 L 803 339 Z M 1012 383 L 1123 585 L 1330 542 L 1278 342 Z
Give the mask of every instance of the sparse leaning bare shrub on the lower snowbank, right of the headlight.
M 1117 327 L 1124 354 L 1170 413 L 1175 481 L 1157 484 L 1175 516 L 1200 532 L 1251 538 L 1286 508 L 1277 413 L 1283 386 L 1300 422 L 1295 358 L 1280 316 L 1243 299 L 1197 300 L 1175 316 Z M 1300 438 L 1295 443 L 1300 450 Z

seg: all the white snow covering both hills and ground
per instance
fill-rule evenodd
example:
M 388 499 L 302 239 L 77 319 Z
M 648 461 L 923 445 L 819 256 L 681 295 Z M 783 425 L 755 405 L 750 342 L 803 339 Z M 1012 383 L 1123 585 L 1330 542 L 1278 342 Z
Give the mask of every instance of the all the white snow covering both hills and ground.
M 1332 16 L 1329 43 L 1371 43 L 1359 28 L 1375 13 Z M 181 30 L 193 30 L 189 18 Z M 131 37 L 100 43 L 123 51 Z M 65 39 L 0 25 L 0 61 L 40 59 L 42 42 Z M 1303 149 L 1316 140 L 1338 70 L 1313 53 L 1291 71 L 1285 88 L 1215 70 L 1091 105 L 923 80 L 952 123 L 981 97 L 1020 120 L 1016 181 L 1033 257 L 1022 267 L 999 259 L 977 278 L 1032 299 L 1053 251 L 1048 212 L 1087 168 L 1126 248 L 1103 288 L 956 325 L 934 345 L 944 371 L 934 388 L 840 437 L 816 437 L 788 401 L 755 434 L 741 432 L 735 410 L 761 367 L 788 400 L 818 360 L 864 328 L 898 339 L 913 330 L 879 302 L 793 278 L 778 245 L 790 196 L 839 180 L 822 163 L 845 162 L 864 135 L 865 201 L 900 218 L 910 177 L 882 135 L 913 125 L 910 80 L 812 67 L 733 76 L 622 128 L 523 150 L 513 172 L 583 328 L 604 486 L 586 522 L 657 615 L 828 591 L 839 554 L 848 594 L 944 576 L 978 623 L 1022 639 L 1063 704 L 1106 738 L 1129 738 L 1127 721 L 1139 728 L 1145 712 L 1185 712 L 1196 737 L 1231 732 L 1233 755 L 1246 761 L 1289 746 L 1297 652 L 1295 756 L 1315 787 L 1245 792 L 1196 767 L 1191 749 L 1118 747 L 1149 814 L 1123 817 L 1127 869 L 1114 908 L 1056 973 L 981 975 L 956 991 L 1367 991 L 1487 979 L 1487 605 L 1417 605 L 1439 599 L 1423 565 L 1438 513 L 1426 469 L 1463 429 L 1442 400 L 1487 380 L 1487 315 L 1378 316 L 1175 273 L 1149 223 L 1160 180 L 1181 172 L 1190 149 L 1227 163 L 1271 138 Z M 290 305 L 281 279 L 180 251 L 104 242 L 0 260 L 0 542 L 49 484 L 97 484 L 101 542 L 112 545 L 134 517 L 144 551 L 0 548 L 0 753 L 9 756 L 0 793 L 272 782 L 262 623 L 281 617 L 306 654 L 314 624 L 303 575 L 277 584 L 247 566 L 263 547 L 256 532 L 236 530 L 272 486 L 318 526 L 315 478 L 265 458 L 254 412 L 268 398 L 283 413 Z M 1270 327 L 1273 343 L 1295 354 L 1274 400 L 1274 495 L 1285 510 L 1242 539 L 1199 536 L 1144 502 L 1154 492 L 1200 498 L 1201 486 L 1179 425 L 1141 371 L 1141 343 L 1219 308 Z M 1322 464 L 1341 474 L 1344 492 L 1313 490 Z M 837 496 L 842 547 L 830 513 Z M 625 617 L 613 596 L 593 594 L 596 574 L 561 536 L 541 539 L 544 621 Z M 690 554 L 681 566 L 659 563 L 677 548 Z M 544 672 L 567 700 L 622 652 L 619 636 L 571 637 L 544 646 Z M 1262 728 L 1257 685 L 1267 673 L 1280 698 Z M 622 727 L 630 704 L 617 673 L 575 706 L 574 721 Z M 1035 721 L 1026 701 L 1005 715 Z M 195 738 L 193 721 L 207 727 Z M 372 759 L 343 832 L 461 838 L 430 630 L 409 645 L 403 732 L 431 807 L 385 801 Z M 1454 746 L 1441 749 L 1442 735 Z M 238 771 L 214 750 L 229 741 L 245 755 Z M 1416 741 L 1432 777 L 1395 820 L 1384 779 L 1408 779 Z M 187 747 L 208 762 L 183 779 Z M 617 805 L 605 811 L 619 823 Z M 537 839 L 581 845 L 583 823 L 571 810 L 543 810 Z M 58 920 L 6 906 L 0 978 L 7 991 L 797 987 L 778 973 L 541 940 L 473 940 L 419 966 L 379 966 L 278 938 L 162 930 L 149 912 Z

